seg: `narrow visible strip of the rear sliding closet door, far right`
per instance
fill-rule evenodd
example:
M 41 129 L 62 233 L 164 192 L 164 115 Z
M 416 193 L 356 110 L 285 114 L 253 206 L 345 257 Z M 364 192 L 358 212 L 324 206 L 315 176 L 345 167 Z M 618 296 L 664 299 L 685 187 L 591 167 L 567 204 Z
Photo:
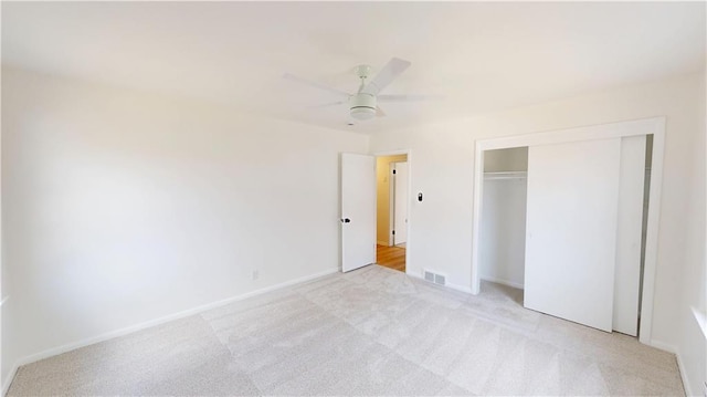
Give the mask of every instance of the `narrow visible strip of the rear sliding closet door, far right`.
M 613 330 L 639 334 L 645 135 L 621 138 Z

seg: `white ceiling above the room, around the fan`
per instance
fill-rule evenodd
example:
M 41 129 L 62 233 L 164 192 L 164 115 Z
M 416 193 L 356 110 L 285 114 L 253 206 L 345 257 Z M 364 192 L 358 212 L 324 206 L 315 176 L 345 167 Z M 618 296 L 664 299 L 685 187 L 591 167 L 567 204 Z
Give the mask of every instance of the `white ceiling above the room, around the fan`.
M 2 63 L 372 133 L 705 67 L 705 3 L 2 2 Z M 352 67 L 412 66 L 384 118 L 347 126 Z

